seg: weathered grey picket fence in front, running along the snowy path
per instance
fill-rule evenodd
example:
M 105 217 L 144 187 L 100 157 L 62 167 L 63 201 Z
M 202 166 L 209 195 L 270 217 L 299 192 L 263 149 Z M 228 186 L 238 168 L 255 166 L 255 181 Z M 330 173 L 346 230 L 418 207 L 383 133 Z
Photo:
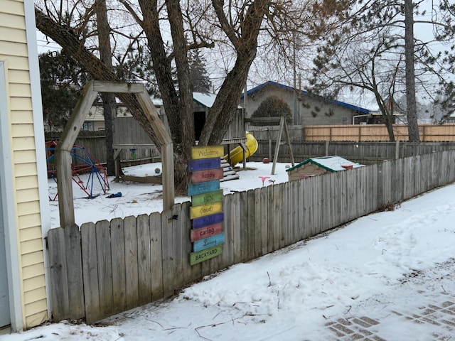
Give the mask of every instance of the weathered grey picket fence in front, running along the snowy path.
M 190 266 L 190 202 L 172 210 L 48 232 L 54 320 L 87 323 L 172 296 L 232 264 L 455 180 L 455 151 L 225 195 L 223 254 Z

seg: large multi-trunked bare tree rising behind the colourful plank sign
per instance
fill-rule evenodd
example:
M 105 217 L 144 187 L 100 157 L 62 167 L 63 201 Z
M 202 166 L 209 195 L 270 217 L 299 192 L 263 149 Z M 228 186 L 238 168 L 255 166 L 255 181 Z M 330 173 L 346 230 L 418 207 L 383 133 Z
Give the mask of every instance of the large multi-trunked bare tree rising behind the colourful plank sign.
M 45 1 L 47 3 L 48 1 Z M 86 1 L 89 2 L 90 1 Z M 320 7 L 318 1 L 311 4 L 324 9 L 322 15 L 331 16 L 330 11 L 338 8 L 339 2 L 324 0 L 326 7 Z M 303 26 L 302 9 L 309 11 L 307 1 L 291 0 L 253 0 L 241 1 L 222 0 L 211 1 L 176 1 L 164 0 L 120 0 L 122 7 L 116 9 L 129 14 L 129 21 L 134 21 L 134 32 L 144 38 L 148 45 L 154 65 L 156 82 L 163 99 L 164 109 L 168 117 L 171 136 L 174 143 L 174 160 L 176 189 L 184 193 L 186 190 L 186 163 L 195 144 L 193 122 L 193 94 L 191 86 L 190 67 L 188 65 L 188 50 L 194 48 L 212 48 L 215 44 L 223 43 L 232 51 L 232 59 L 228 65 L 227 74 L 220 86 L 218 96 L 210 108 L 205 120 L 199 144 L 220 144 L 237 110 L 240 94 L 250 67 L 257 56 L 259 42 L 262 48 L 267 48 L 271 41 L 277 42 L 287 35 L 286 28 L 293 27 L 296 31 Z M 306 7 L 302 4 L 305 3 Z M 337 5 L 336 5 L 337 4 Z M 77 1 L 77 6 L 80 2 Z M 70 6 L 68 6 L 68 9 Z M 78 7 L 79 8 L 79 7 Z M 82 7 L 81 7 L 82 8 Z M 85 8 L 90 8 L 85 4 Z M 300 9 L 300 10 L 299 10 Z M 45 7 L 36 8 L 38 29 L 45 33 L 77 60 L 94 79 L 119 80 L 119 77 L 109 70 L 99 58 L 86 48 L 87 38 L 81 38 L 80 32 L 85 25 L 80 10 L 77 26 L 59 22 L 55 16 L 51 18 Z M 62 9 L 52 9 L 55 13 Z M 75 11 L 73 8 L 70 11 Z M 133 20 L 131 20 L 133 19 Z M 139 28 L 138 28 L 139 27 Z M 319 26 L 318 26 L 319 27 Z M 321 28 L 319 28 L 321 30 Z M 264 36 L 262 36 L 264 34 Z M 128 38 L 128 35 L 123 36 Z M 264 38 L 269 37 L 269 38 Z M 189 41 L 187 38 L 191 38 Z M 279 45 L 279 44 L 278 44 Z M 177 75 L 177 86 L 173 80 L 173 68 Z M 144 115 L 141 114 L 137 102 L 127 95 L 118 95 L 132 111 L 147 133 L 154 139 L 153 131 L 147 127 Z

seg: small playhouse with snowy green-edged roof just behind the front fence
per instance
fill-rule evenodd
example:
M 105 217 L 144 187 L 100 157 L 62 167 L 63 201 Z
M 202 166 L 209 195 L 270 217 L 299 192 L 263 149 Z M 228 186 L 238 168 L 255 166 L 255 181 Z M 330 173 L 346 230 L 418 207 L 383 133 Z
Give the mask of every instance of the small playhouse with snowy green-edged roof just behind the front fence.
M 348 161 L 346 158 L 341 158 L 340 156 L 321 156 L 319 158 L 308 158 L 286 171 L 289 181 L 292 181 L 308 178 L 309 176 L 346 171 L 347 169 L 362 166 L 364 165 Z

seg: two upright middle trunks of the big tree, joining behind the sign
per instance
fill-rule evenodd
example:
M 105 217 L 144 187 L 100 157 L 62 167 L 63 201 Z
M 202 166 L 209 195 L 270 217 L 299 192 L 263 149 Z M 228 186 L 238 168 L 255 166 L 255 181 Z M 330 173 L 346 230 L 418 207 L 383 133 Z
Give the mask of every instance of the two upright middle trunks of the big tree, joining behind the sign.
M 191 147 L 195 144 L 193 92 L 191 90 L 186 38 L 183 35 L 183 18 L 180 5 L 176 0 L 166 0 L 173 55 L 176 61 L 178 90 L 172 79 L 171 61 L 164 49 L 161 36 L 158 5 L 156 0 L 139 0 L 144 19 L 140 22 L 151 49 L 151 60 L 154 64 L 156 82 L 163 99 L 164 109 L 168 117 L 169 129 L 174 143 L 174 178 L 178 195 L 186 194 L 186 165 L 191 156 Z

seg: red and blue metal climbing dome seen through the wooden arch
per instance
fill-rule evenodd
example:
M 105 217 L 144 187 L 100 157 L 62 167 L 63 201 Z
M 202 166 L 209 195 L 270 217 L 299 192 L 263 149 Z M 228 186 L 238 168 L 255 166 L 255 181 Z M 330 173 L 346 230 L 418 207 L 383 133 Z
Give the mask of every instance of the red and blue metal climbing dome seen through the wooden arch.
M 55 169 L 55 148 L 57 147 L 57 141 L 48 141 L 45 144 L 46 151 L 46 163 L 48 167 L 48 178 L 53 178 L 57 182 L 57 171 Z M 100 185 L 100 189 L 104 194 L 109 190 L 109 180 L 105 167 L 97 161 L 84 147 L 73 146 L 70 151 L 72 159 L 71 163 L 71 178 L 79 188 L 87 194 L 87 199 L 92 199 L 97 195 L 93 195 L 95 185 Z M 80 178 L 81 174 L 88 173 L 87 182 Z M 96 177 L 96 181 L 95 181 Z M 51 201 L 57 199 L 58 194 L 54 197 L 49 197 Z

